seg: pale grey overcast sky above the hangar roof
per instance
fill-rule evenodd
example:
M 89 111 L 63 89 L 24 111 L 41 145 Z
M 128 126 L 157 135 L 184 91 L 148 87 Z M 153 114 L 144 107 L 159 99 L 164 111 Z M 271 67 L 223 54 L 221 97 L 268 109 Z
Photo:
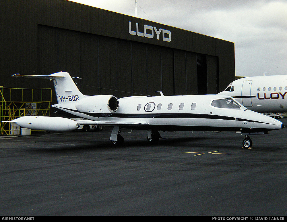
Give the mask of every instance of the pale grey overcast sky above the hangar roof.
M 135 0 L 75 0 L 135 17 Z M 235 45 L 236 76 L 287 74 L 287 0 L 137 0 L 137 17 Z

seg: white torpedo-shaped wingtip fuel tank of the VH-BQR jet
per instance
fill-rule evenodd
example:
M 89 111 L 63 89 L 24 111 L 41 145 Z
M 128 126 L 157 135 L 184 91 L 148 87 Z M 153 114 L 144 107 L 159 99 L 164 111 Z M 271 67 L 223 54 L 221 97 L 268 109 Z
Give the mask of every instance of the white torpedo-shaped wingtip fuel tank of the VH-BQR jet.
M 22 116 L 12 121 L 20 127 L 47 130 L 47 131 L 73 131 L 79 128 L 79 123 L 74 120 L 63 117 L 52 116 Z

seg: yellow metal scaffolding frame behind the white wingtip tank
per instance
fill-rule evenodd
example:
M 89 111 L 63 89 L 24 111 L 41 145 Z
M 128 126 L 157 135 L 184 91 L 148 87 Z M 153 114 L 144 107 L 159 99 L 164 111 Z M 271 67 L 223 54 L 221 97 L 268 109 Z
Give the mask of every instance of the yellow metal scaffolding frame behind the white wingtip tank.
M 4 93 L 7 93 L 7 95 Z M 25 91 L 25 95 L 24 95 Z M 19 93 L 20 92 L 20 93 Z M 17 94 L 20 101 L 12 101 L 12 94 Z M 24 98 L 30 97 L 29 101 Z M 4 96 L 5 94 L 5 96 Z M 20 94 L 20 95 L 19 95 Z M 43 96 L 49 97 L 49 101 L 44 101 Z M 39 97 L 36 99 L 35 97 Z M 35 101 L 38 100 L 38 101 Z M 24 89 L 6 88 L 0 86 L 0 128 L 1 134 L 13 134 L 11 124 L 3 121 L 10 121 L 21 116 L 50 116 L 52 102 L 52 89 Z M 13 127 L 13 126 L 12 126 Z

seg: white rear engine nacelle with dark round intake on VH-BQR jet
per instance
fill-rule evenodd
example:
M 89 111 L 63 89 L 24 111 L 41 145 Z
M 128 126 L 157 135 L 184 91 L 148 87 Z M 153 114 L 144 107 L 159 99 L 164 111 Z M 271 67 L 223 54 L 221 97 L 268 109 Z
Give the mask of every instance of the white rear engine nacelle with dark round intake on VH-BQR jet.
M 80 112 L 109 116 L 119 108 L 119 100 L 113 95 L 93 95 L 80 99 L 75 107 Z

